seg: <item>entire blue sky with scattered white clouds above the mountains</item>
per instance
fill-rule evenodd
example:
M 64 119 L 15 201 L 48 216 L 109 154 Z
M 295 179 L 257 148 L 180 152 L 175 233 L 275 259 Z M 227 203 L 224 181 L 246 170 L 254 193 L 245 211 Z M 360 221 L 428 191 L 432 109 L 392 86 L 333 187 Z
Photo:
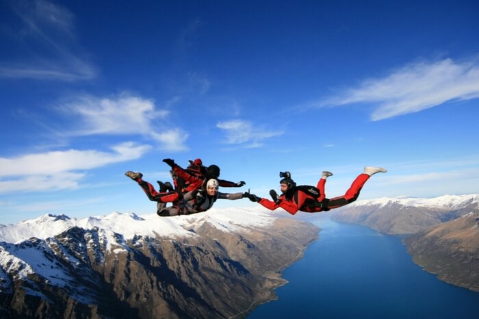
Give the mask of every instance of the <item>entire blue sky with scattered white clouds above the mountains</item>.
M 1 1 L 0 223 L 154 213 L 123 174 L 166 157 L 224 192 L 477 193 L 478 30 L 478 1 Z

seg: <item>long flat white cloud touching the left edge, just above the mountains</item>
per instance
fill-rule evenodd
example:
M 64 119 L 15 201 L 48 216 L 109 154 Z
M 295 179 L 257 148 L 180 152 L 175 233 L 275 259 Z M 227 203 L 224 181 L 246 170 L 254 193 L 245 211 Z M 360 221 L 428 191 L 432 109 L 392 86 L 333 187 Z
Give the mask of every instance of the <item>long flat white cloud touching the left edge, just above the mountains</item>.
M 109 153 L 70 149 L 0 158 L 0 193 L 77 188 L 86 175 L 79 170 L 137 159 L 150 148 L 126 142 L 112 147 Z

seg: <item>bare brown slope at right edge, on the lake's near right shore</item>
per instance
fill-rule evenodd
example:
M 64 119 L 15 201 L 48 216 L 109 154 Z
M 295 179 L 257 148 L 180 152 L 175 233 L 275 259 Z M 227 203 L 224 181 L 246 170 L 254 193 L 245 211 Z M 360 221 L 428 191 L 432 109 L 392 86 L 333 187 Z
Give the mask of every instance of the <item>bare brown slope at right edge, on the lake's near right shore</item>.
M 404 239 L 416 264 L 439 279 L 479 292 L 479 214 L 430 227 Z

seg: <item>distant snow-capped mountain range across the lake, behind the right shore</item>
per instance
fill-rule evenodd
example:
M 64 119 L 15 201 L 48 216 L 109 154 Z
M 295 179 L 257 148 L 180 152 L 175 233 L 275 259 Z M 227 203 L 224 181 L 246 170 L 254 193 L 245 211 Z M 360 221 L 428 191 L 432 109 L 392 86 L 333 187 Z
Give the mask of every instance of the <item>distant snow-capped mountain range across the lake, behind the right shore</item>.
M 352 222 L 388 234 L 417 233 L 470 212 L 479 212 L 479 194 L 432 199 L 381 198 L 355 201 L 333 212 L 333 220 Z

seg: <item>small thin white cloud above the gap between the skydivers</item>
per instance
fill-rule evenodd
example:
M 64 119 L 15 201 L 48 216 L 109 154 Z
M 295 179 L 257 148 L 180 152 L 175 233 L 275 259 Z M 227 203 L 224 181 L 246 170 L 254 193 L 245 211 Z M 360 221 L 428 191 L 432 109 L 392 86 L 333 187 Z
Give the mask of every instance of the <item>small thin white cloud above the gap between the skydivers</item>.
M 227 120 L 219 122 L 216 127 L 226 131 L 226 142 L 229 144 L 244 144 L 245 147 L 261 147 L 263 140 L 281 136 L 282 131 L 266 131 L 260 127 L 253 127 L 253 123 L 246 120 Z

